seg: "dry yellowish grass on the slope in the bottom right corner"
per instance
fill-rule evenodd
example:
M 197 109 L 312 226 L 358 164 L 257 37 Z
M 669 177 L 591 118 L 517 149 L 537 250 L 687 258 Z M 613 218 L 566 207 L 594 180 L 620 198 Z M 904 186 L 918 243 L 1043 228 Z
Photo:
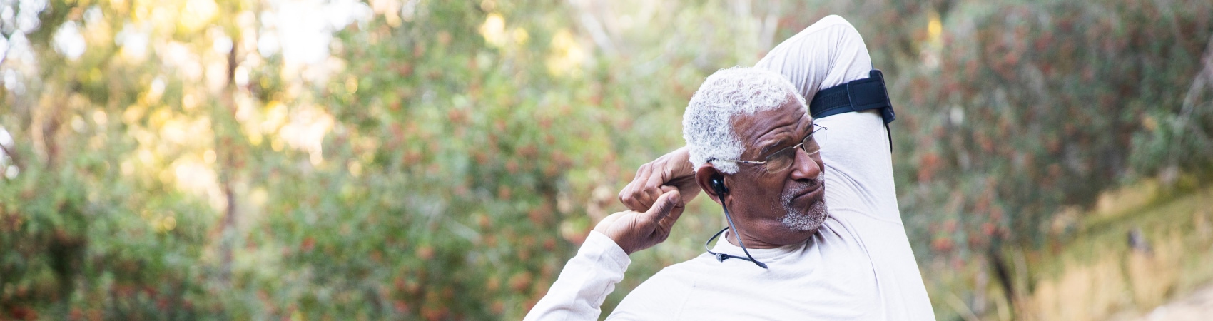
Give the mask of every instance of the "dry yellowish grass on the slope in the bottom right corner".
M 1061 251 L 1041 256 L 1023 319 L 1127 317 L 1213 281 L 1213 189 L 1167 199 L 1097 212 Z M 1147 248 L 1131 248 L 1134 229 Z

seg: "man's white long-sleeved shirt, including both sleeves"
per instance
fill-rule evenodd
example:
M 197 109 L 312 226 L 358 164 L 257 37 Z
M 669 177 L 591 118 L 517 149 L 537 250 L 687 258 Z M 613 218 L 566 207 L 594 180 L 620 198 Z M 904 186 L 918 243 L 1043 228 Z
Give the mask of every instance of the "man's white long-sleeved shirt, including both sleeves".
M 871 58 L 854 27 L 828 16 L 756 67 L 788 76 L 811 101 L 819 90 L 867 78 Z M 671 265 L 628 293 L 608 319 L 934 320 L 901 224 L 878 111 L 837 114 L 815 124 L 828 128 L 821 159 L 830 217 L 811 239 L 751 248 L 769 269 L 740 259 L 718 262 L 708 253 Z M 712 251 L 745 256 L 723 240 Z M 591 233 L 526 320 L 597 319 L 630 263 L 614 241 Z

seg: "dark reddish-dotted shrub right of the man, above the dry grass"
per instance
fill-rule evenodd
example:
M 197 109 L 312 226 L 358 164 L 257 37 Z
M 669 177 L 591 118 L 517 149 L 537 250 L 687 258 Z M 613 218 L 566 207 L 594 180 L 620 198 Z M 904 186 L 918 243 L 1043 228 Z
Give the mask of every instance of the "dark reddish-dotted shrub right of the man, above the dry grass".
M 1167 141 L 1180 125 L 1155 125 L 1179 114 L 1208 55 L 1209 4 L 1174 7 L 957 5 L 938 45 L 923 48 L 932 58 L 895 80 L 916 115 L 894 148 L 907 160 L 896 172 L 916 247 L 964 256 L 991 239 L 1041 245 L 1059 207 L 1088 206 L 1164 164 L 1147 160 L 1192 153 L 1184 170 L 1207 168 L 1207 138 Z M 1194 134 L 1211 128 L 1203 115 L 1188 124 Z M 934 213 L 916 216 L 924 212 Z

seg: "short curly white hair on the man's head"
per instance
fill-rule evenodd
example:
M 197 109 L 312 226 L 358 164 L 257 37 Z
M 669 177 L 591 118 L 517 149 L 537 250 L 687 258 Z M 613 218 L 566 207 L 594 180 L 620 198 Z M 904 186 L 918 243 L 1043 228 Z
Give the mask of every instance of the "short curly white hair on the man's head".
M 683 139 L 687 139 L 690 162 L 712 165 L 728 174 L 738 172 L 734 161 L 745 151 L 745 144 L 733 132 L 733 117 L 771 110 L 796 97 L 808 113 L 808 104 L 792 82 L 782 74 L 734 67 L 717 70 L 699 86 L 683 114 Z

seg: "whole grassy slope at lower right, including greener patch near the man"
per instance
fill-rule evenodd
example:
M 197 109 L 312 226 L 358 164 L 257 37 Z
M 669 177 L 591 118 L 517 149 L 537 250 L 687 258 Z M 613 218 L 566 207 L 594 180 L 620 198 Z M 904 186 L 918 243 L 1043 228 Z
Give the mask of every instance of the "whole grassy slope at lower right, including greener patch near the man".
M 1069 210 L 1044 248 L 1007 248 L 1015 299 L 980 259 L 922 266 L 940 320 L 1107 320 L 1144 315 L 1213 282 L 1213 188 L 1144 182 Z M 1146 247 L 1129 246 L 1138 231 Z M 1069 233 L 1066 233 L 1069 231 Z M 936 266 L 938 265 L 938 266 Z M 963 266 L 957 269 L 958 266 Z M 949 273 L 934 273 L 934 271 Z

